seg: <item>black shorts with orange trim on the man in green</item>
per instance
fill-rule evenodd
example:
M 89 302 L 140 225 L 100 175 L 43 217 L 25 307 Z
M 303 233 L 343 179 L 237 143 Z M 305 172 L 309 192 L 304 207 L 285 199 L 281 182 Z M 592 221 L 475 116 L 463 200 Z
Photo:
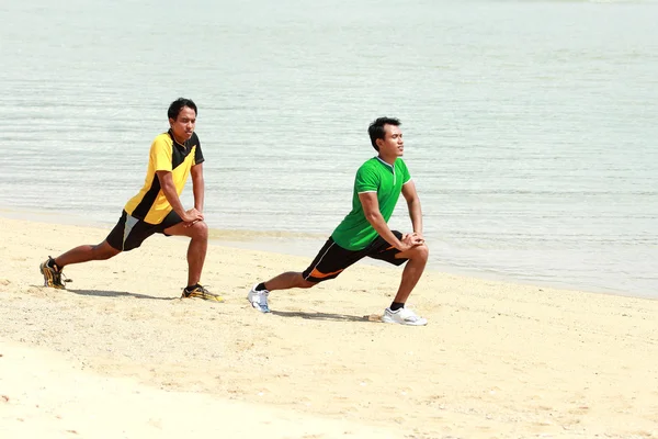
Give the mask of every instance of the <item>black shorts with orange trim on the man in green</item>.
M 398 239 L 402 239 L 402 234 L 398 230 L 392 230 Z M 407 261 L 406 258 L 396 258 L 400 250 L 393 247 L 386 240 L 377 236 L 377 238 L 371 243 L 363 250 L 348 250 L 342 248 L 333 241 L 332 238 L 327 239 L 325 246 L 318 252 L 318 256 L 310 262 L 310 266 L 302 275 L 309 282 L 322 282 L 329 279 L 336 279 L 338 275 L 352 263 L 363 258 L 371 257 L 373 259 L 381 259 L 395 266 L 401 266 Z

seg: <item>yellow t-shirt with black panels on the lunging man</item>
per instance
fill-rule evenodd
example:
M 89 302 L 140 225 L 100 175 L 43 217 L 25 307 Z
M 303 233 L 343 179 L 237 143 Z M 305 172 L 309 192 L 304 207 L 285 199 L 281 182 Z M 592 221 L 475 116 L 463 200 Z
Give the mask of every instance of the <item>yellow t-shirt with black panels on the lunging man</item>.
M 160 224 L 172 207 L 160 188 L 160 180 L 156 171 L 171 172 L 175 191 L 180 196 L 190 176 L 190 169 L 203 161 L 201 143 L 196 133 L 192 134 L 184 145 L 173 139 L 171 130 L 160 134 L 151 144 L 144 187 L 126 203 L 124 210 L 137 219 L 149 224 Z

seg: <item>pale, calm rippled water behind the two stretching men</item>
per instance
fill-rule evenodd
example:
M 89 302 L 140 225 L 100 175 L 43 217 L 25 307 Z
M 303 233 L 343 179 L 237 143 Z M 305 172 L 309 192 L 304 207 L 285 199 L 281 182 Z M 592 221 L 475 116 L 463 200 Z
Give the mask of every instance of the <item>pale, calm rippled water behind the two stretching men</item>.
M 0 206 L 113 224 L 184 95 L 209 225 L 315 236 L 314 256 L 374 155 L 368 122 L 394 115 L 432 267 L 658 297 L 655 1 L 24 0 L 0 16 Z M 404 200 L 390 224 L 408 229 Z

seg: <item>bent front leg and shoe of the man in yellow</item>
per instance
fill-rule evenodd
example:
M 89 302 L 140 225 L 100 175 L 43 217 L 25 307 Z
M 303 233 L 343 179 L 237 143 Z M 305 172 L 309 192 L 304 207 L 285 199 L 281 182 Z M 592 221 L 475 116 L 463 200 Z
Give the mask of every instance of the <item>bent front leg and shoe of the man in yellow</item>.
M 208 249 L 208 226 L 198 221 L 194 224 L 179 223 L 164 229 L 167 235 L 188 236 L 188 286 L 183 290 L 183 297 L 198 297 L 206 301 L 224 302 L 217 294 L 211 293 L 201 283 L 201 272 Z

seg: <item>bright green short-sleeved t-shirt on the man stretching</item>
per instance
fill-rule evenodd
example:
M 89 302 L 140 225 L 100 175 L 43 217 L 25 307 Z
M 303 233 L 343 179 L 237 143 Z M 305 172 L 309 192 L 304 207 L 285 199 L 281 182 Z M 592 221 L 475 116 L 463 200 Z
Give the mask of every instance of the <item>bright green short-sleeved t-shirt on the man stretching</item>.
M 331 238 L 348 250 L 362 250 L 377 237 L 377 230 L 368 223 L 363 213 L 359 194 L 376 192 L 379 212 L 388 222 L 402 191 L 402 184 L 411 180 L 407 165 L 401 158 L 390 166 L 378 157 L 373 157 L 356 171 L 352 212 L 336 227 Z

